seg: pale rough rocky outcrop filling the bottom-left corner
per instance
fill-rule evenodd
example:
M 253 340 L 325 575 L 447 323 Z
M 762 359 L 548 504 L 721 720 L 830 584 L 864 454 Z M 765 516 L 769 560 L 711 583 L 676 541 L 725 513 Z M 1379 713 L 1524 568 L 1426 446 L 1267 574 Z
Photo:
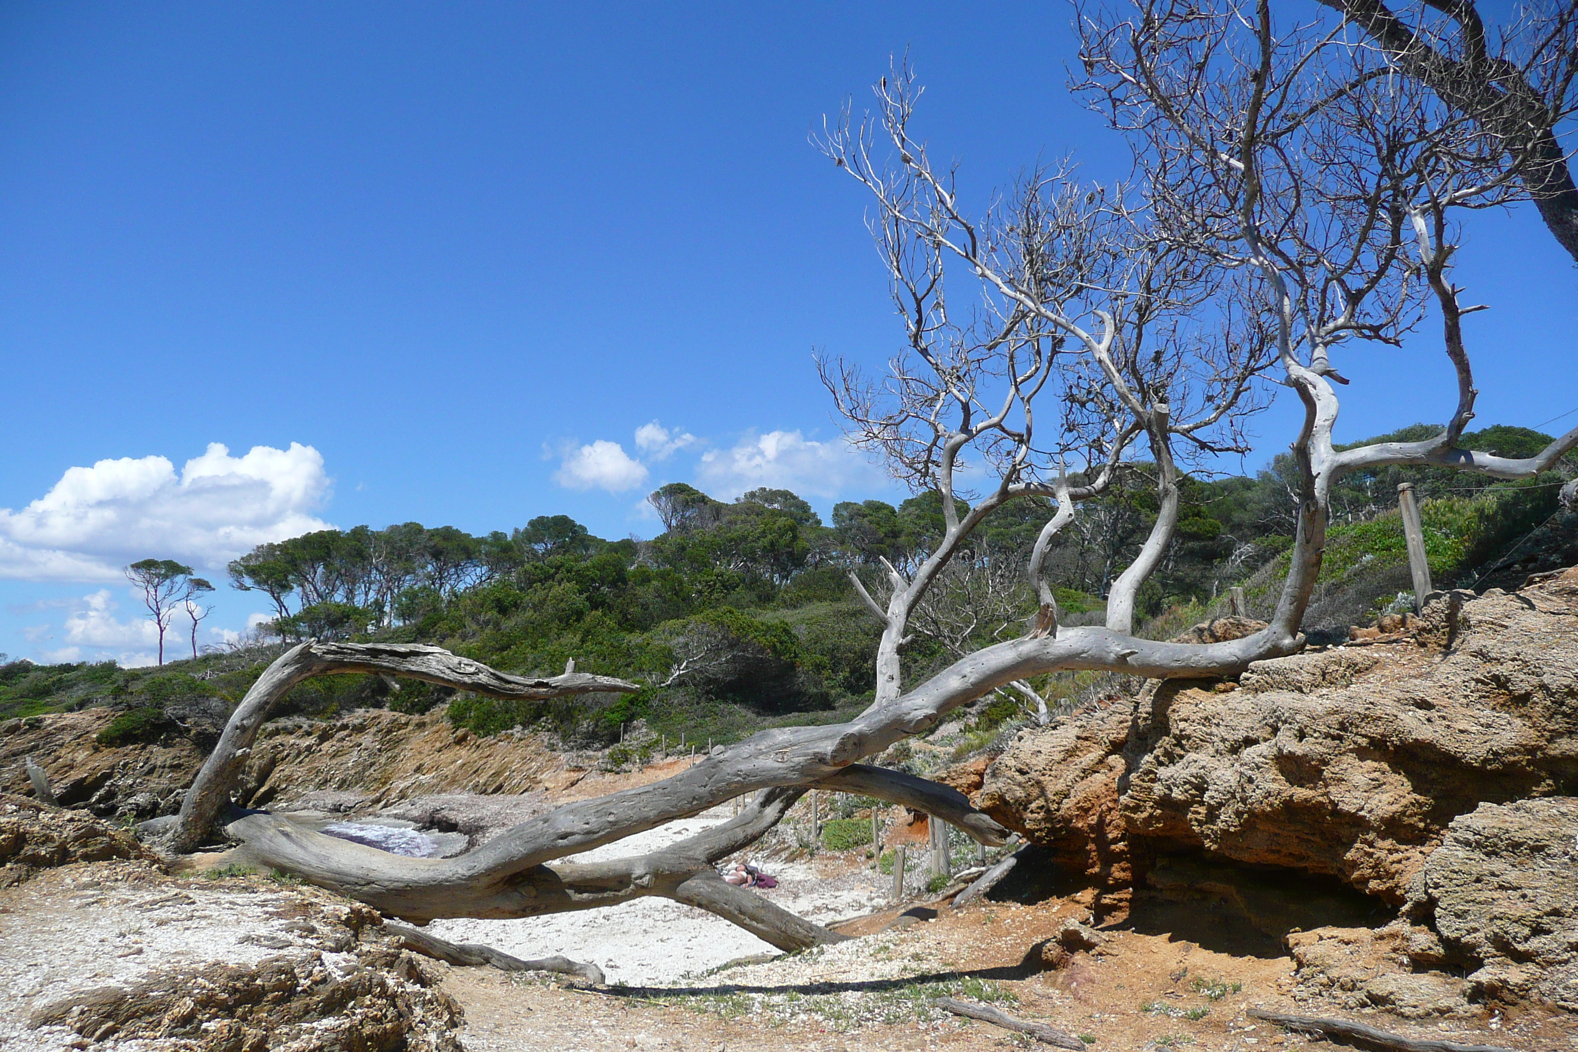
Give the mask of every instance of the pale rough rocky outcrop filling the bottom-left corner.
M 316 888 L 172 877 L 80 811 L 0 798 L 0 1046 L 459 1052 L 442 965 Z M 16 850 L 13 850 L 16 849 Z M 96 860 L 106 861 L 96 861 Z

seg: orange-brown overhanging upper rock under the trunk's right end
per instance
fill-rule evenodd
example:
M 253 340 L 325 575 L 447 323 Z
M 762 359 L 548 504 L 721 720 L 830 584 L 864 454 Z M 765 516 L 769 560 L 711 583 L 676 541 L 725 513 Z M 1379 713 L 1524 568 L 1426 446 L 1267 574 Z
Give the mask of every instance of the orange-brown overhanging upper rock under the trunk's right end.
M 1578 784 L 1575 732 L 1570 569 L 1442 596 L 1395 642 L 1256 662 L 1239 689 L 1172 681 L 1026 730 L 980 806 L 1109 885 L 1202 850 L 1401 905 L 1453 819 Z

